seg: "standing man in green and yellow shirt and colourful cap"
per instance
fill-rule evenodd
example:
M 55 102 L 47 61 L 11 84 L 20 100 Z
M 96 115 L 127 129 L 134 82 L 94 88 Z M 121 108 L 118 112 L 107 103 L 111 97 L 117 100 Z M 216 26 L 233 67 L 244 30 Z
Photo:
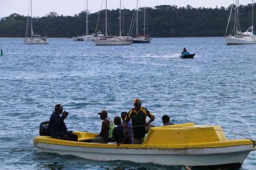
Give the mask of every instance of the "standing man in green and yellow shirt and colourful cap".
M 140 99 L 135 99 L 133 105 L 134 108 L 128 112 L 124 125 L 127 127 L 128 121 L 132 119 L 133 144 L 142 144 L 146 135 L 145 126 L 149 126 L 155 120 L 155 116 L 148 109 L 141 107 Z M 147 116 L 150 118 L 148 122 Z

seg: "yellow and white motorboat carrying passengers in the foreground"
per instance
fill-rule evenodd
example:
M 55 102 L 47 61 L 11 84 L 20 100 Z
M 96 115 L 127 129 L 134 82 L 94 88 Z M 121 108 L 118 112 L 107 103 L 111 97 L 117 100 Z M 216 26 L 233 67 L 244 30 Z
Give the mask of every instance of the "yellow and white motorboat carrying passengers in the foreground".
M 255 140 L 227 139 L 219 125 L 176 124 L 150 128 L 143 144 L 83 142 L 94 133 L 75 131 L 79 142 L 37 136 L 33 143 L 38 152 L 76 155 L 100 161 L 123 160 L 152 162 L 167 166 L 186 165 L 205 168 L 239 169 L 254 151 Z

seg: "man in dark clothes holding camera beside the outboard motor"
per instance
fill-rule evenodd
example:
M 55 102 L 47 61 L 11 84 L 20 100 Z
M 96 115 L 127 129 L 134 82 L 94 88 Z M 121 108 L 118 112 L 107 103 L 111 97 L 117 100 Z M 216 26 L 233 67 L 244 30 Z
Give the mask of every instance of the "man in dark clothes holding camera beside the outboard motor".
M 64 123 L 64 119 L 67 119 L 68 112 L 63 112 L 63 109 L 62 104 L 57 104 L 55 106 L 55 111 L 52 112 L 50 117 L 48 130 L 50 131 L 52 138 L 78 141 L 78 136 L 72 133 L 72 131 L 68 131 Z M 62 116 L 60 117 L 61 114 Z

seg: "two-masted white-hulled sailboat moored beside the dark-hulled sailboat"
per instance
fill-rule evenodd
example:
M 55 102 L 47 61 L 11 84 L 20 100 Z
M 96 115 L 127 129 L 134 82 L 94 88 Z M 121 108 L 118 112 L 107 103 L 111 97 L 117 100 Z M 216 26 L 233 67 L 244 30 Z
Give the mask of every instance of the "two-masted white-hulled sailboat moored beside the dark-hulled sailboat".
M 107 46 L 107 45 L 130 45 L 132 44 L 132 37 L 121 36 L 121 0 L 120 0 L 120 24 L 119 24 L 119 37 L 112 36 L 108 37 L 107 32 L 107 0 L 106 0 L 106 11 L 105 11 L 105 37 L 104 39 L 93 39 L 97 46 Z

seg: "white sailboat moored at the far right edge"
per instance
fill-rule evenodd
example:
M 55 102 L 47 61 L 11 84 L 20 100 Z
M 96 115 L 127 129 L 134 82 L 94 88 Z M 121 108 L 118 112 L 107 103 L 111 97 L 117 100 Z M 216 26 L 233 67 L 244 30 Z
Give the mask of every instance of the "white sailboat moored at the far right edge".
M 229 15 L 229 19 L 228 19 L 228 25 L 230 23 L 230 18 L 232 15 L 233 4 L 232 4 L 231 12 Z M 253 35 L 253 22 L 252 22 L 252 25 L 245 32 L 240 31 L 240 25 L 239 25 L 239 21 L 238 21 L 238 7 L 239 7 L 239 0 L 236 0 L 234 27 L 232 29 L 232 33 L 227 35 L 227 30 L 228 30 L 228 26 L 227 26 L 226 34 L 224 36 L 226 43 L 227 43 L 227 45 L 255 44 L 256 43 L 256 35 Z M 252 16 L 253 16 L 253 0 L 252 0 Z

